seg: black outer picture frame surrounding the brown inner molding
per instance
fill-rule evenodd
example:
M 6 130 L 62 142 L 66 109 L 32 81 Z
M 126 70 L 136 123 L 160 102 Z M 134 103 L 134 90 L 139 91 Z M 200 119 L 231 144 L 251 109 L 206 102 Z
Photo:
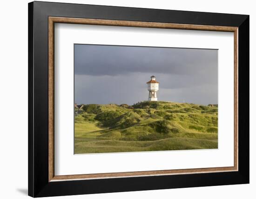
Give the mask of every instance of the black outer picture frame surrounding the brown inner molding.
M 238 171 L 49 182 L 49 16 L 238 27 Z M 28 4 L 29 196 L 63 196 L 246 183 L 249 183 L 249 15 L 40 1 Z

